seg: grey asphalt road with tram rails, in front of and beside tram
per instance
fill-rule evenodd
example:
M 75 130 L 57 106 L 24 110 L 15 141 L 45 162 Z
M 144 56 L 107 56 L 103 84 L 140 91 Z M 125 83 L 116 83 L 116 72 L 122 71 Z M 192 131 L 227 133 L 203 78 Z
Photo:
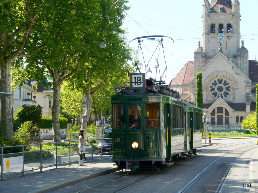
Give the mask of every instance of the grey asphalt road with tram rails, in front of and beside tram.
M 256 141 L 212 139 L 217 144 L 199 148 L 196 156 L 159 172 L 116 172 L 52 192 L 248 192 L 243 185 L 249 184 Z

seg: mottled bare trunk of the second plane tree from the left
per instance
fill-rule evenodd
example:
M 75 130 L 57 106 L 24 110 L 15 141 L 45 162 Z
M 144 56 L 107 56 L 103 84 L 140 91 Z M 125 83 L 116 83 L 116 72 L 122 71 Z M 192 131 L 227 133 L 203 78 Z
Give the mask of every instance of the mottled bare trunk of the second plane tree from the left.
M 52 106 L 52 125 L 53 125 L 53 142 L 61 141 L 61 130 L 60 130 L 60 85 L 59 73 L 57 69 L 54 69 L 54 81 L 53 81 L 53 106 Z

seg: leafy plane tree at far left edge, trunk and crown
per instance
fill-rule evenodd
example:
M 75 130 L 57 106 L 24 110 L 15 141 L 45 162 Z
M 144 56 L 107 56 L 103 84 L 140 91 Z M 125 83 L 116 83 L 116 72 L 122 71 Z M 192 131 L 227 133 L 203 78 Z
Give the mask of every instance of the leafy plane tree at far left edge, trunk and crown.
M 45 48 L 45 42 L 30 45 L 31 34 L 39 24 L 41 7 L 18 0 L 0 0 L 0 92 L 11 93 L 10 65 L 17 58 L 31 57 Z M 30 48 L 30 49 L 28 49 Z M 13 140 L 12 105 L 10 97 L 1 97 L 1 134 Z

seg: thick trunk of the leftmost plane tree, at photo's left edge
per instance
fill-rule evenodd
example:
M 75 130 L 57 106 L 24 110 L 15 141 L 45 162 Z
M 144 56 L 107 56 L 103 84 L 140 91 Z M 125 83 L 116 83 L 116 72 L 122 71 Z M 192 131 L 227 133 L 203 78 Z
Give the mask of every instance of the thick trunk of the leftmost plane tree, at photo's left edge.
M 1 62 L 0 92 L 11 93 L 10 63 Z M 10 96 L 1 97 L 1 126 L 5 138 L 13 140 L 12 106 Z

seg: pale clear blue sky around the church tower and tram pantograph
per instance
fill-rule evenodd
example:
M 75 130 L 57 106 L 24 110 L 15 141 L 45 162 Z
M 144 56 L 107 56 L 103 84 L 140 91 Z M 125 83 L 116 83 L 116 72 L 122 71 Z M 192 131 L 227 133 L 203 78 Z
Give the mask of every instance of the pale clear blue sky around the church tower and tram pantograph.
M 152 73 L 146 77 L 159 79 L 163 74 L 165 66 L 167 71 L 162 80 L 169 84 L 182 67 L 193 61 L 193 52 L 198 48 L 198 41 L 202 40 L 202 4 L 203 0 L 129 0 L 131 6 L 126 11 L 123 28 L 127 29 L 127 43 L 137 37 L 149 35 L 163 35 L 170 38 L 163 39 L 164 54 L 159 48 L 157 41 L 144 41 L 142 51 L 147 69 L 150 67 Z M 244 40 L 244 46 L 249 51 L 249 59 L 258 59 L 258 1 L 238 0 L 240 3 L 240 43 Z M 209 0 L 211 3 L 211 0 Z M 222 42 L 223 43 L 223 42 Z M 241 45 L 239 45 L 240 47 Z M 129 44 L 134 50 L 138 49 L 138 41 L 134 40 Z M 160 50 L 155 52 L 156 49 Z M 154 53 L 154 54 L 153 54 Z M 151 58 L 151 55 L 154 57 Z M 165 56 L 165 57 L 164 57 Z M 136 57 L 136 54 L 133 54 Z M 142 54 L 138 55 L 143 64 L 141 73 L 145 72 L 145 64 Z M 159 71 L 156 75 L 159 62 Z M 165 60 L 164 60 L 165 58 Z M 150 62 L 148 63 L 148 61 Z M 139 73 L 139 72 L 138 72 Z M 160 75 L 159 75 L 160 74 Z

